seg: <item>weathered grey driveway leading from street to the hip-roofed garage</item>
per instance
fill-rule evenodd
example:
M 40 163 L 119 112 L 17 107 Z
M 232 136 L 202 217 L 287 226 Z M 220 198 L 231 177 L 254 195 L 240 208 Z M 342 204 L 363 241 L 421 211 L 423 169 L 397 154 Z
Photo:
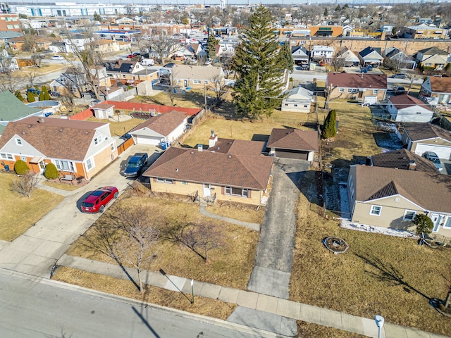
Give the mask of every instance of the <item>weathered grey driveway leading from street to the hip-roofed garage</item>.
M 247 284 L 250 291 L 282 299 L 290 296 L 296 232 L 295 206 L 302 177 L 308 168 L 307 161 L 276 158 L 274 162 L 271 196 L 260 229 L 254 269 Z M 289 337 L 297 332 L 295 320 L 242 306 L 233 311 L 228 321 Z

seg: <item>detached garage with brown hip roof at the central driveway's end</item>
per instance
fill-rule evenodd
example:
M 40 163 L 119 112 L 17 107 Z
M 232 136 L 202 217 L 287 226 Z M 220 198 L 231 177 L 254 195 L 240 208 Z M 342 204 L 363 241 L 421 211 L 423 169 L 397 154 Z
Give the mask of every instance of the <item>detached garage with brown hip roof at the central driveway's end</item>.
M 273 129 L 266 147 L 270 156 L 312 162 L 319 149 L 319 134 L 314 130 Z

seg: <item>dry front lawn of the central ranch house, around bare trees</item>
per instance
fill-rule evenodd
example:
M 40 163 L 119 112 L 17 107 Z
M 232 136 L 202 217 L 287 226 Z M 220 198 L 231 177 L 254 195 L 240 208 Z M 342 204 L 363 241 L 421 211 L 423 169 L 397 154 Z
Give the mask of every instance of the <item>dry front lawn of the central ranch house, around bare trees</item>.
M 193 251 L 187 249 L 178 243 L 160 240 L 153 248 L 157 255 L 156 259 L 145 270 L 159 271 L 163 268 L 170 275 L 178 275 L 201 282 L 209 282 L 233 287 L 236 289 L 245 289 L 249 276 L 252 272 L 255 251 L 259 233 L 247 228 L 239 227 L 229 223 L 223 223 L 218 220 L 205 218 L 199 213 L 199 206 L 175 199 L 167 199 L 164 196 L 137 197 L 131 196 L 120 198 L 116 204 L 141 204 L 147 206 L 153 211 L 156 220 L 162 223 L 165 220 L 173 222 L 179 221 L 205 221 L 213 223 L 221 230 L 223 246 L 213 249 L 209 252 L 209 261 L 204 262 Z M 111 213 L 113 208 L 105 213 Z M 102 215 L 97 222 L 106 222 L 106 215 Z M 85 236 L 92 235 L 92 230 L 88 230 Z M 101 255 L 101 253 L 90 251 L 83 245 L 85 239 L 80 239 L 68 250 L 69 255 L 81 256 L 114 263 L 111 258 Z M 176 259 L 174 259 L 176 258 Z

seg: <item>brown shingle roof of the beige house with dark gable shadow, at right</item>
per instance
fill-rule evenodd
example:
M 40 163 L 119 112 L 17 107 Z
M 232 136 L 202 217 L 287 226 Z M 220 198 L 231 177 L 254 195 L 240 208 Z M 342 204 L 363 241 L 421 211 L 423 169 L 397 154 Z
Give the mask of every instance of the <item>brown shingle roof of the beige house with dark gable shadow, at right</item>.
M 447 175 L 356 165 L 356 180 L 357 201 L 400 194 L 428 211 L 451 213 L 451 177 Z

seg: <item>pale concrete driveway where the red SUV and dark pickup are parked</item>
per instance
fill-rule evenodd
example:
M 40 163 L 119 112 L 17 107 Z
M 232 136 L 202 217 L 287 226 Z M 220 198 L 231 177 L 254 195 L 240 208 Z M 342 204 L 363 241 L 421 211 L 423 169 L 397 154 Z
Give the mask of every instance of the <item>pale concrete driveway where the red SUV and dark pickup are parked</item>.
M 79 206 L 84 196 L 98 187 L 106 185 L 116 186 L 122 193 L 128 187 L 130 179 L 120 174 L 121 163 L 136 152 L 143 151 L 148 151 L 149 157 L 152 158 L 155 147 L 131 146 L 108 168 L 94 177 L 89 184 L 73 192 L 59 191 L 66 197 L 56 208 L 44 215 L 13 242 L 2 243 L 0 268 L 38 277 L 50 277 L 51 269 L 56 261 L 66 252 L 70 244 L 78 239 L 100 216 L 99 213 L 87 214 L 80 211 Z M 52 189 L 47 186 L 43 188 Z

